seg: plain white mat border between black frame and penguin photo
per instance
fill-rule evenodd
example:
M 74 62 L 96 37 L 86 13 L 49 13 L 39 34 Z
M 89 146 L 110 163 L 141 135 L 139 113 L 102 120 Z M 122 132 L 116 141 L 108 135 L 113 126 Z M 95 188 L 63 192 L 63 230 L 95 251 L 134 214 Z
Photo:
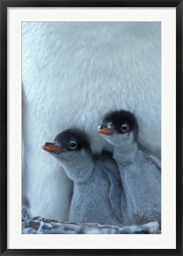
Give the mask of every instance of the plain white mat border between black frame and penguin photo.
M 8 248 L 174 249 L 175 8 L 8 8 Z M 21 22 L 162 22 L 162 234 L 21 235 Z M 170 120 L 171 117 L 171 120 Z M 173 131 L 172 131 L 173 127 Z M 171 129 L 171 130 L 170 130 Z M 170 136 L 171 135 L 171 136 Z

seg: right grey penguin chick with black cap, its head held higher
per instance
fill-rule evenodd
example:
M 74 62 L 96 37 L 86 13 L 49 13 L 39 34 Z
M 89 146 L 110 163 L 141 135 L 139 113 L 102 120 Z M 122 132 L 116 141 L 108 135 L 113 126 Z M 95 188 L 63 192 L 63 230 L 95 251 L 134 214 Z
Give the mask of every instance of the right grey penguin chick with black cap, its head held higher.
M 120 110 L 107 114 L 97 131 L 114 146 L 124 194 L 125 223 L 161 224 L 161 161 L 139 149 L 138 121 L 134 114 Z

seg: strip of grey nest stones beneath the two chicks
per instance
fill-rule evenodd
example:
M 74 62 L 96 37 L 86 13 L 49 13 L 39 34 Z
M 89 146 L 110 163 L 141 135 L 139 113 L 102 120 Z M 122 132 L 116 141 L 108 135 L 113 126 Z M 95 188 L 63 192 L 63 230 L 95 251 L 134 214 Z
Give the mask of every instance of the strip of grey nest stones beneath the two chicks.
M 22 234 L 157 234 L 158 222 L 145 225 L 118 226 L 100 225 L 99 223 L 63 222 L 61 220 L 30 218 L 27 209 L 22 209 Z

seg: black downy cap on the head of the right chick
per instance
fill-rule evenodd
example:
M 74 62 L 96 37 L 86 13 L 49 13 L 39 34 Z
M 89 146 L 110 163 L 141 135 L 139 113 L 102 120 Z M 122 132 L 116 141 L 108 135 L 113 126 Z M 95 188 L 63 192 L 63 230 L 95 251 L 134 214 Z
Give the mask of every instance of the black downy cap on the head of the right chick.
M 133 131 L 136 137 L 138 133 L 138 121 L 135 115 L 130 111 L 113 111 L 104 117 L 103 124 L 110 124 L 110 126 L 120 134 Z

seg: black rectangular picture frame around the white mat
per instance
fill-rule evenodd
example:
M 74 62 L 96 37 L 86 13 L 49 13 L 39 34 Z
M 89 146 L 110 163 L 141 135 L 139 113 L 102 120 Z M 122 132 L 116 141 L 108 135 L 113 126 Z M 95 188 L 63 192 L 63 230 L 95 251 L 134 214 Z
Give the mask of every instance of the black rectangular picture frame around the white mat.
M 1 255 L 183 255 L 182 250 L 182 13 L 180 0 L 27 1 L 0 0 L 1 7 Z M 8 7 L 176 7 L 177 46 L 177 246 L 176 249 L 7 249 L 7 8 Z

